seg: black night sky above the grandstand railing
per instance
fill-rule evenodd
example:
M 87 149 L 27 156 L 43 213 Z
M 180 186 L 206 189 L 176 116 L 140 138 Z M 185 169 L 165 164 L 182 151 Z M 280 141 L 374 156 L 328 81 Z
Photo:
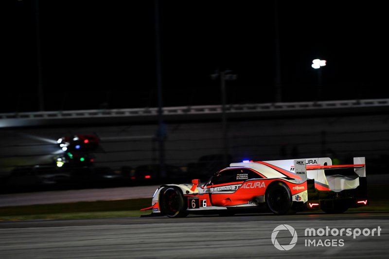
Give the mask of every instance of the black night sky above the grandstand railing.
M 44 110 L 158 106 L 154 4 L 1 1 L 0 113 L 39 111 L 39 82 Z M 216 69 L 237 74 L 227 82 L 230 104 L 275 102 L 276 71 L 283 102 L 388 98 L 384 6 L 378 0 L 160 0 L 163 104 L 220 104 L 220 82 L 210 77 Z M 327 60 L 320 95 L 315 58 Z

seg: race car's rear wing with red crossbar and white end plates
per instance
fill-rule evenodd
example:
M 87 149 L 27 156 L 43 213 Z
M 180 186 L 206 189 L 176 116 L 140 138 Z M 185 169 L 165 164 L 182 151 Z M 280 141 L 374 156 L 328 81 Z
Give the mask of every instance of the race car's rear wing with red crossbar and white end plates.
M 320 169 L 341 169 L 341 168 L 354 168 L 354 172 L 359 177 L 366 177 L 366 164 L 365 157 L 354 157 L 354 164 L 350 165 L 306 165 L 305 159 L 294 160 L 295 173 L 301 177 L 303 181 L 307 179 L 308 170 L 320 170 Z

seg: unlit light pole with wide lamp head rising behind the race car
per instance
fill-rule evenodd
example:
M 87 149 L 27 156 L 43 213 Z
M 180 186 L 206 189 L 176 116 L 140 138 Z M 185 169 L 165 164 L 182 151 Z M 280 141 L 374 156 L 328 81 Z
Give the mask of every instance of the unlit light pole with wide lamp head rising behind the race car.
M 227 165 L 228 143 L 227 143 L 227 115 L 226 115 L 226 81 L 236 80 L 236 74 L 230 74 L 232 70 L 216 71 L 211 75 L 212 79 L 220 77 L 220 91 L 222 94 L 222 139 L 223 139 L 223 164 Z

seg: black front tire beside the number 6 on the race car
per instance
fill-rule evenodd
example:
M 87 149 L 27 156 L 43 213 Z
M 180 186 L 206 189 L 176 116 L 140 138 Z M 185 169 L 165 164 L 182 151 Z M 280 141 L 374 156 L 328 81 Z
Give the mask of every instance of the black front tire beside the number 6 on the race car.
M 161 212 L 169 218 L 182 218 L 188 216 L 187 204 L 181 190 L 174 187 L 165 187 L 160 196 Z

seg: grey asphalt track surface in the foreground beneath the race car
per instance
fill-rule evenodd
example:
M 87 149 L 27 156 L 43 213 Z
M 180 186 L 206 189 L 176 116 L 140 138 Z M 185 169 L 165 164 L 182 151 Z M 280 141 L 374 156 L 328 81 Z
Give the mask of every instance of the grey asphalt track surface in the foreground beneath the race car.
M 271 239 L 284 224 L 295 230 L 296 242 L 288 230 L 274 241 L 295 243 L 290 250 L 277 249 Z M 322 233 L 327 227 L 329 236 L 305 235 L 306 228 Z M 350 228 L 352 235 L 333 236 L 335 228 Z M 388 212 L 1 222 L 0 258 L 388 258 L 388 229 Z

